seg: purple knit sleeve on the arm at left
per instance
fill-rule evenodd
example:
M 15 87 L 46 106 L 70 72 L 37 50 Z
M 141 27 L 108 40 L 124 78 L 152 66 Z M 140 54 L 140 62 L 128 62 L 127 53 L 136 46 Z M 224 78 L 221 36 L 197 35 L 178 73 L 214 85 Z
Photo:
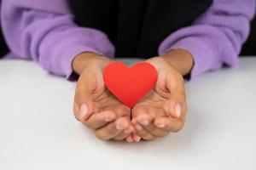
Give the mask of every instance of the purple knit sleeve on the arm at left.
M 38 61 L 45 70 L 70 77 L 72 61 L 84 52 L 113 56 L 113 45 L 101 31 L 73 23 L 66 0 L 3 0 L 3 32 L 20 59 Z

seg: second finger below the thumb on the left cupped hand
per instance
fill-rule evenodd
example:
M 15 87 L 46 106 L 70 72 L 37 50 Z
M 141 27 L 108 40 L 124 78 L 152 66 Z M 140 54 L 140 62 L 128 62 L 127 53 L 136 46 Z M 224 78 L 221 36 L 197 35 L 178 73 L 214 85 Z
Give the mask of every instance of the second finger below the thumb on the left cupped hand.
M 95 131 L 96 137 L 102 140 L 113 139 L 129 127 L 129 121 L 126 117 L 119 117 L 115 122 L 99 128 Z

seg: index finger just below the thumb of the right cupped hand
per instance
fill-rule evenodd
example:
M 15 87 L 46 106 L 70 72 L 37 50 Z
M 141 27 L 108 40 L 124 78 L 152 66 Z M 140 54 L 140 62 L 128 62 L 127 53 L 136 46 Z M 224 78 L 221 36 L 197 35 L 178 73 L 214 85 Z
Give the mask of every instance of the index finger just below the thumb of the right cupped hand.
M 182 120 L 163 116 L 154 120 L 154 125 L 166 132 L 178 132 L 183 128 L 184 122 Z

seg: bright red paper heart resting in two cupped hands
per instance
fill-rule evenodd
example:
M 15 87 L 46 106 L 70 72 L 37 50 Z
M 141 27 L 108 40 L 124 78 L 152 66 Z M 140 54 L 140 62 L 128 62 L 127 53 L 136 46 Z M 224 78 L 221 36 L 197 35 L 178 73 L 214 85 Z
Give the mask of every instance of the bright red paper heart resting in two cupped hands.
M 142 62 L 131 68 L 123 63 L 110 63 L 104 70 L 104 82 L 109 91 L 122 103 L 132 107 L 154 88 L 157 71 L 153 65 Z

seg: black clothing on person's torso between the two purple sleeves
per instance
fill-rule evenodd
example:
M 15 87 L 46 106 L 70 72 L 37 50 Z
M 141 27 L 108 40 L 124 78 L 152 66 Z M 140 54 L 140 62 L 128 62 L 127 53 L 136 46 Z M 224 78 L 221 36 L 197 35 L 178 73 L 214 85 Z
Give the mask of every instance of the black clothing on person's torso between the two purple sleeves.
M 105 32 L 117 57 L 156 56 L 167 36 L 203 14 L 212 0 L 69 0 L 79 26 Z

